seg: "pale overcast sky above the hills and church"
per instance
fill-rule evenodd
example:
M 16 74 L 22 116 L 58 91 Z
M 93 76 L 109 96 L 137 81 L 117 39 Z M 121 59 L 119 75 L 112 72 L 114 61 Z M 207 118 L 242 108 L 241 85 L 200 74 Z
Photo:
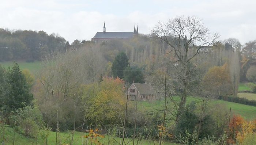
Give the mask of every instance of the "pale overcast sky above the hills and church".
M 158 23 L 181 15 L 196 15 L 221 40 L 242 44 L 256 39 L 255 0 L 0 0 L 0 28 L 43 30 L 69 43 L 91 40 L 97 31 L 149 34 Z

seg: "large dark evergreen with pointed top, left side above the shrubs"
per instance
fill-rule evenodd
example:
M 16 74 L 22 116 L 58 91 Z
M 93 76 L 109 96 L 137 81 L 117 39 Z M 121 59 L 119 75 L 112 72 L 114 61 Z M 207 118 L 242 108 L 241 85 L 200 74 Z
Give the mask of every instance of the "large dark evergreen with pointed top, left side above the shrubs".
M 30 105 L 33 94 L 30 92 L 29 84 L 17 63 L 7 71 L 8 95 L 5 98 L 5 106 L 10 111 Z

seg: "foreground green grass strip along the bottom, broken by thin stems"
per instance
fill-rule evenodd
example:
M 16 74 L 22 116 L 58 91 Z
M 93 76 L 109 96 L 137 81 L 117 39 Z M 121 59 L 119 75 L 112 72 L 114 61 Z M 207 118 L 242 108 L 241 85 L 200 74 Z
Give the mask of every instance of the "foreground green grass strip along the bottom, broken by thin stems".
M 0 128 L 0 133 L 1 133 L 1 138 L 0 142 L 3 142 L 3 137 L 2 137 L 2 127 Z M 40 134 L 40 132 L 39 132 Z M 85 133 L 83 133 L 83 136 Z M 63 133 L 58 133 L 57 134 L 57 144 L 61 145 L 69 145 L 71 143 L 71 138 L 72 138 L 72 131 L 67 131 Z M 83 140 L 83 145 L 86 145 L 86 142 L 88 145 L 90 145 L 90 141 L 86 140 L 86 138 L 82 138 L 81 132 L 75 131 L 74 132 L 74 138 L 73 138 L 73 145 L 81 145 Z M 122 138 L 115 137 L 115 140 L 118 142 L 122 141 Z M 105 138 L 102 138 L 99 140 L 101 143 L 105 145 L 117 145 L 116 141 L 109 136 L 106 135 Z M 128 140 L 125 139 L 125 144 L 128 143 L 128 141 L 132 141 L 131 138 Z M 135 141 L 137 143 L 138 140 Z M 12 145 L 14 142 L 15 145 L 35 145 L 35 138 L 28 138 L 20 135 L 12 127 L 4 126 L 4 143 L 5 145 Z M 155 144 L 158 143 L 158 141 L 154 141 Z M 46 140 L 41 138 L 40 136 L 37 137 L 37 145 L 45 145 Z M 131 143 L 131 142 L 130 142 Z M 48 145 L 55 145 L 56 144 L 56 132 L 50 132 L 49 137 L 48 137 Z M 154 145 L 153 141 L 151 140 L 141 140 L 140 145 Z M 162 145 L 176 145 L 167 141 L 163 141 Z

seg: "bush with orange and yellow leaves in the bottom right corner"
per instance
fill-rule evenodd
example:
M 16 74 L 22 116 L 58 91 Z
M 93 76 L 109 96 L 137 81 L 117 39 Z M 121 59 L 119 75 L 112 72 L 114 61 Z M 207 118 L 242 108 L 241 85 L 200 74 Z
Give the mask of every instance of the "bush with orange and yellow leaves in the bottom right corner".
M 241 116 L 234 115 L 229 124 L 229 138 L 227 143 L 243 145 L 245 139 L 256 133 L 256 119 L 245 121 Z

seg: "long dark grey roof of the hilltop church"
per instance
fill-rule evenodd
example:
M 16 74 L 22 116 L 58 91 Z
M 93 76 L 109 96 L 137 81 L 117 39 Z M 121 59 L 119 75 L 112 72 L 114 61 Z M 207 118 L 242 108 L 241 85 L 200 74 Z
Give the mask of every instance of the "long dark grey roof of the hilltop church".
M 133 32 L 97 32 L 92 39 L 132 38 Z

